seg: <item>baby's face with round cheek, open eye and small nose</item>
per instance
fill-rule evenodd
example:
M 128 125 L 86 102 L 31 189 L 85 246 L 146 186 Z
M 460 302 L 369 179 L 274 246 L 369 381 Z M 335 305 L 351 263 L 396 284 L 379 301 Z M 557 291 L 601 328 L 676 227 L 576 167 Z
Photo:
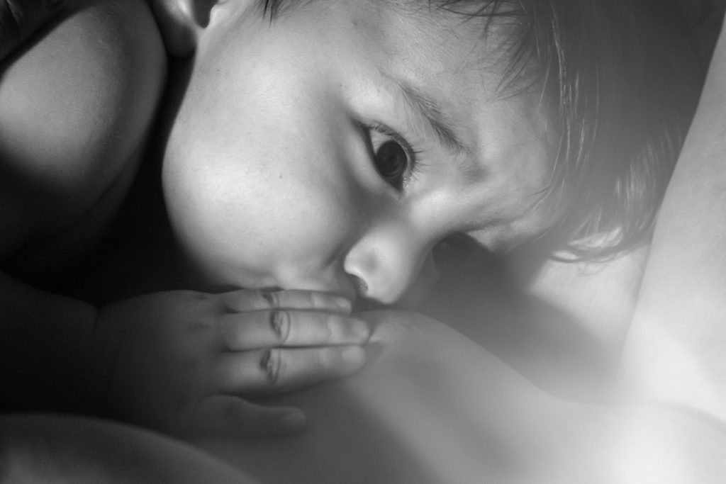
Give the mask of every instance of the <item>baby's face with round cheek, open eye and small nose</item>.
M 393 303 L 442 239 L 497 252 L 552 223 L 539 97 L 499 95 L 478 22 L 389 3 L 213 9 L 163 169 L 208 286 Z

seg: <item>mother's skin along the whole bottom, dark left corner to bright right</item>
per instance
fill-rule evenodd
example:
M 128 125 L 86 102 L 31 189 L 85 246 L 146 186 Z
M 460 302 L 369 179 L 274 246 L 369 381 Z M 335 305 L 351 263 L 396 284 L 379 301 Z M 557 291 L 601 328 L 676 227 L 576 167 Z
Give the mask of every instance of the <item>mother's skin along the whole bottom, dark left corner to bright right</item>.
M 375 354 L 360 374 L 277 398 L 307 411 L 300 435 L 192 440 L 224 463 L 118 424 L 5 416 L 1 482 L 722 482 L 726 438 L 695 419 L 558 401 L 443 324 L 369 318 Z

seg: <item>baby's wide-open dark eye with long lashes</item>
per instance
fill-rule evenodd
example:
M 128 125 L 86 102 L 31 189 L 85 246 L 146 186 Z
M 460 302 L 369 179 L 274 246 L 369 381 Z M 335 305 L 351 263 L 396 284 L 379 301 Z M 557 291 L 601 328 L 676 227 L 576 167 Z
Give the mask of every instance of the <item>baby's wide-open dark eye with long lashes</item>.
M 396 190 L 404 189 L 413 175 L 416 152 L 403 137 L 386 126 L 367 126 L 373 165 Z

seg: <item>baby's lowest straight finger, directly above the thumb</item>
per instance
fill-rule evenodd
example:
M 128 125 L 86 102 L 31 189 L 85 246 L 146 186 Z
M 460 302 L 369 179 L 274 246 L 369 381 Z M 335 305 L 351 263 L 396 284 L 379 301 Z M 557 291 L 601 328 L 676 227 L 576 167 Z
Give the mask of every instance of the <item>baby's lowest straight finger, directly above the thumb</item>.
M 342 377 L 365 363 L 359 346 L 271 348 L 225 353 L 216 367 L 216 385 L 224 393 L 281 393 Z

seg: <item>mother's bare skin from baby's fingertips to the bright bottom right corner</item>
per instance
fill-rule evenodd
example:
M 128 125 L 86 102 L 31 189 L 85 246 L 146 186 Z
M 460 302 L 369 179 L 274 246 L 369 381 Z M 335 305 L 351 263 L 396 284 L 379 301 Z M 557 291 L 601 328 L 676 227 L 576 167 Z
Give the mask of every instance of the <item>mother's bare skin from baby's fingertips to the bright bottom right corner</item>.
M 276 398 L 307 432 L 196 443 L 268 484 L 721 483 L 726 435 L 688 413 L 552 398 L 415 313 L 368 313 L 370 363 Z

